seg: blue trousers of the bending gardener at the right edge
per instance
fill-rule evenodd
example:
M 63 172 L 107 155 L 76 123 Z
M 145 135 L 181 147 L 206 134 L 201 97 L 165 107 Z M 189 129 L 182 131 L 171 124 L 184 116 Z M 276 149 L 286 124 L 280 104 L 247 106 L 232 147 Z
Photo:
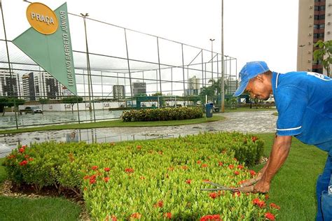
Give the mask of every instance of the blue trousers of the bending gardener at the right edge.
M 321 175 L 319 175 L 317 179 L 317 187 L 316 187 L 316 194 L 317 194 L 317 221 L 331 221 L 332 220 L 332 197 L 330 201 L 330 204 L 321 204 L 321 192 L 324 191 L 325 195 L 324 197 L 327 197 L 327 190 L 328 185 L 330 183 L 331 179 L 331 173 L 332 173 L 332 151 L 329 152 L 329 155 L 326 160 L 324 171 Z M 332 183 L 332 180 L 331 180 Z M 331 207 L 331 208 L 330 208 Z M 325 213 L 324 213 L 325 211 Z M 328 213 L 328 214 L 327 214 Z M 324 214 L 324 215 L 323 215 Z

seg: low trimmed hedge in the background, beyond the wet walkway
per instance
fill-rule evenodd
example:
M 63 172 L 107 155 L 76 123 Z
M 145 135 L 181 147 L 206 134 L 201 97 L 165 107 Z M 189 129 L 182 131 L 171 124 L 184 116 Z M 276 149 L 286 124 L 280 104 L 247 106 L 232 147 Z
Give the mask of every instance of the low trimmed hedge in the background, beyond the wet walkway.
M 132 121 L 160 121 L 160 120 L 187 120 L 203 116 L 201 108 L 181 107 L 181 108 L 158 108 L 124 111 L 122 120 Z

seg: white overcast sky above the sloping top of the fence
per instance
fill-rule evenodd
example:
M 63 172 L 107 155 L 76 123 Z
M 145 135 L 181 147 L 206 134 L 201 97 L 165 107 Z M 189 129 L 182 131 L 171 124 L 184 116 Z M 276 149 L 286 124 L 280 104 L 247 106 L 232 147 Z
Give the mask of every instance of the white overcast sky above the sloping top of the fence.
M 39 2 L 53 10 L 64 3 Z M 267 62 L 272 71 L 296 71 L 298 0 L 223 2 L 224 55 L 237 58 L 237 72 L 246 62 L 257 60 Z M 2 4 L 7 37 L 13 40 L 29 28 L 25 18 L 28 3 L 2 0 Z M 68 0 L 67 7 L 69 13 L 89 13 L 95 20 L 206 50 L 211 50 L 209 39 L 214 38 L 214 51 L 221 53 L 221 0 Z M 69 22 L 72 33 L 76 23 Z M 111 42 L 111 36 L 105 39 Z M 89 47 L 99 44 L 95 41 Z

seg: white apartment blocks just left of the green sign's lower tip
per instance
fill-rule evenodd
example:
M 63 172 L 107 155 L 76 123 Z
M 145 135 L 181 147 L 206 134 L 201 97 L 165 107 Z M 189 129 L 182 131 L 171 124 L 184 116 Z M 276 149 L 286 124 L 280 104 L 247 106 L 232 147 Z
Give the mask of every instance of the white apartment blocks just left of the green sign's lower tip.
M 62 99 L 62 85 L 47 72 L 30 72 L 22 76 L 23 97 L 26 101 Z

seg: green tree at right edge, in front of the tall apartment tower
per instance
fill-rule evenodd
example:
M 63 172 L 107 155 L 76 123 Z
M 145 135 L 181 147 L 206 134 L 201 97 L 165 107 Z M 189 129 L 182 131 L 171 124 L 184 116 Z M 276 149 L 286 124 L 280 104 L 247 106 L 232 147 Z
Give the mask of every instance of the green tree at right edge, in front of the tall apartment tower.
M 314 44 L 314 47 L 318 47 L 317 50 L 314 50 L 314 62 L 321 61 L 321 64 L 327 72 L 327 76 L 330 77 L 330 65 L 332 64 L 332 40 L 325 42 L 319 40 Z

